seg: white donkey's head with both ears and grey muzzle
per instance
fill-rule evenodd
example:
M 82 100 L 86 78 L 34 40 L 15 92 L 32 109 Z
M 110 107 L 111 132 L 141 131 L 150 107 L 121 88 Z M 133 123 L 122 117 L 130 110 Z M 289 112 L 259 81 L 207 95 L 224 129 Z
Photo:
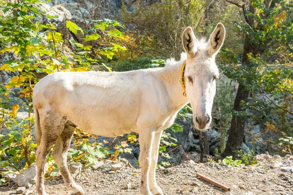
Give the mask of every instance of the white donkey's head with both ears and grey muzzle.
M 199 130 L 209 128 L 211 108 L 216 93 L 219 71 L 215 56 L 225 39 L 225 27 L 218 23 L 207 43 L 198 41 L 191 27 L 182 34 L 183 47 L 187 53 L 184 81 L 186 95 L 193 110 L 193 122 Z

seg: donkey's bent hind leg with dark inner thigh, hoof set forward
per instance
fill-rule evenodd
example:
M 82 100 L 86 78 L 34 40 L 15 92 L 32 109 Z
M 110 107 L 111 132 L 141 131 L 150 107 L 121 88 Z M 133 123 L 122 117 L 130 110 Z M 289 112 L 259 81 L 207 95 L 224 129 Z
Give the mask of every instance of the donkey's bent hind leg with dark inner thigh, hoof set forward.
M 53 158 L 61 172 L 67 189 L 72 191 L 74 195 L 84 195 L 83 188 L 75 183 L 67 168 L 67 152 L 71 144 L 74 128 L 75 125 L 69 120 L 65 123 L 64 130 L 56 141 Z

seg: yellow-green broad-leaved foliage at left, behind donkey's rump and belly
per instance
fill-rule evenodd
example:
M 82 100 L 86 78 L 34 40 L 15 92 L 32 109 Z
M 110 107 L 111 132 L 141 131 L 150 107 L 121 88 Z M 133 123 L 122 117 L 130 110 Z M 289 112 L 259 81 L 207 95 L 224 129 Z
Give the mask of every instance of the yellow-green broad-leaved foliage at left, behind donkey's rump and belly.
M 0 85 L 0 157 L 5 157 L 7 161 L 1 166 L 10 165 L 14 169 L 21 171 L 35 161 L 35 150 L 37 145 L 32 141 L 32 126 L 34 116 L 32 115 L 32 89 L 38 82 L 35 73 L 51 74 L 56 71 L 87 71 L 93 65 L 102 65 L 107 59 L 112 59 L 119 51 L 126 48 L 121 46 L 117 40 L 124 39 L 120 30 L 123 28 L 115 20 L 91 21 L 91 29 L 83 30 L 77 24 L 66 21 L 66 27 L 77 35 L 84 35 L 84 42 L 76 42 L 71 39 L 69 43 L 76 47 L 76 51 L 71 53 L 73 62 L 69 61 L 63 54 L 64 40 L 62 34 L 57 32 L 57 26 L 52 23 L 40 24 L 33 20 L 40 15 L 49 20 L 55 16 L 44 15 L 39 10 L 37 3 L 40 0 L 21 0 L 16 3 L 1 4 L 1 10 L 8 13 L 5 17 L 0 16 L 0 43 L 3 49 L 0 53 L 14 53 L 16 59 L 9 59 L 3 63 L 0 70 L 15 72 L 15 77 L 3 86 Z M 96 26 L 96 27 L 94 27 Z M 103 31 L 101 31 L 103 29 Z M 42 35 L 40 32 L 42 31 Z M 87 44 L 90 42 L 90 44 Z M 107 66 L 105 66 L 107 67 Z M 108 69 L 111 71 L 110 69 Z M 10 98 L 11 88 L 21 88 L 18 92 L 19 98 Z M 16 96 L 16 94 L 14 94 Z M 13 104 L 15 101 L 22 101 L 21 105 Z M 26 110 L 28 117 L 19 119 L 17 112 L 19 109 Z M 4 133 L 4 129 L 9 131 Z M 102 143 L 89 143 L 89 137 L 81 142 L 79 137 L 84 137 L 82 130 L 77 130 L 75 135 L 75 146 L 71 149 L 70 159 L 80 161 L 84 167 L 92 166 L 97 159 L 110 156 L 112 153 L 106 149 Z M 129 149 L 121 150 L 126 143 L 116 146 L 121 152 L 131 152 Z M 118 152 L 117 152 L 118 153 Z M 117 154 L 118 155 L 118 154 Z M 56 167 L 49 156 L 51 168 Z M 3 161 L 1 161 L 2 163 Z M 55 171 L 51 172 L 53 176 Z

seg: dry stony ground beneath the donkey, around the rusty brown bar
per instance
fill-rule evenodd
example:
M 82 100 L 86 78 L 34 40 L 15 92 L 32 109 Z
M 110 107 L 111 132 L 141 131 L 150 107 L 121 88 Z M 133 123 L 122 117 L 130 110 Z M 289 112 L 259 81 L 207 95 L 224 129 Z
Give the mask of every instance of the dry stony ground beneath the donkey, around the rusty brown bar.
M 157 170 L 157 180 L 165 195 L 293 195 L 293 156 L 261 155 L 256 158 L 257 165 L 239 167 L 185 161 L 176 167 Z M 221 182 L 231 190 L 225 192 L 198 178 L 196 173 Z M 140 195 L 139 177 L 140 170 L 131 168 L 127 162 L 105 160 L 95 169 L 83 170 L 76 181 L 83 186 L 86 195 Z M 45 186 L 50 195 L 70 194 L 62 178 L 46 179 Z M 35 194 L 34 188 L 33 185 L 22 194 Z M 0 195 L 17 194 L 17 189 L 11 182 L 0 187 Z

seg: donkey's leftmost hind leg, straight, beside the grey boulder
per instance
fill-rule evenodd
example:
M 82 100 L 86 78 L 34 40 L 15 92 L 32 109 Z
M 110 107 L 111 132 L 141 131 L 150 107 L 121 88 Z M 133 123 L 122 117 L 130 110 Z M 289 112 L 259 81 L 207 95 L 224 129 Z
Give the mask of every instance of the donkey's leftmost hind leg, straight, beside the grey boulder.
M 58 135 L 64 128 L 65 117 L 58 117 L 56 113 L 50 112 L 42 121 L 42 137 L 40 145 L 36 151 L 37 158 L 37 183 L 36 191 L 38 195 L 47 195 L 44 186 L 44 166 L 51 147 L 56 142 Z

